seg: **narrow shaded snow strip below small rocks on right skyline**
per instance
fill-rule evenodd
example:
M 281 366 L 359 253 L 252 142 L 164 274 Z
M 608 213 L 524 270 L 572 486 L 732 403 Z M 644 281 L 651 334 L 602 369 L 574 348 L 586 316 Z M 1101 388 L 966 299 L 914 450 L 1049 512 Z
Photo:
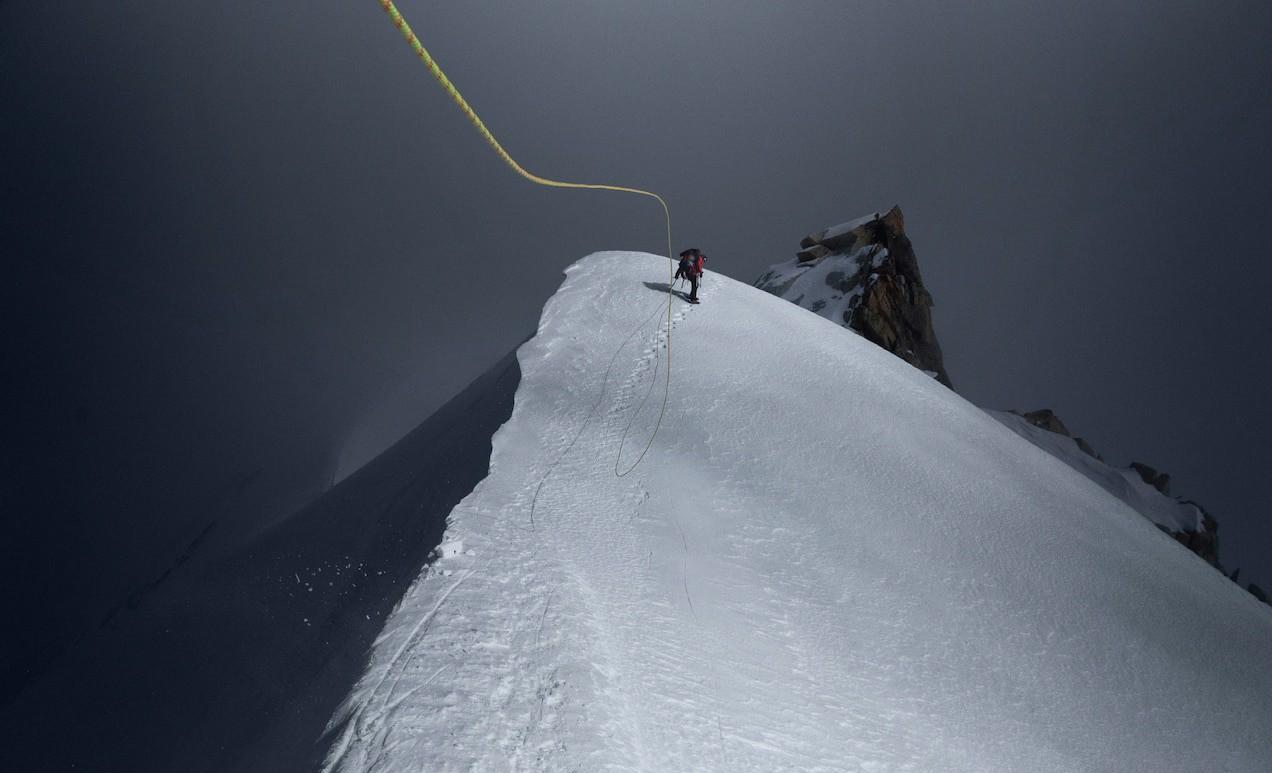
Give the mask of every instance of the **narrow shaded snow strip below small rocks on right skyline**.
M 1165 496 L 1145 483 L 1135 469 L 1100 462 L 1080 449 L 1072 437 L 1035 427 L 1023 416 L 1007 411 L 988 411 L 988 413 L 1016 435 L 1095 481 L 1104 491 L 1150 521 L 1172 531 L 1198 531 L 1205 528 L 1202 512 L 1196 505 Z

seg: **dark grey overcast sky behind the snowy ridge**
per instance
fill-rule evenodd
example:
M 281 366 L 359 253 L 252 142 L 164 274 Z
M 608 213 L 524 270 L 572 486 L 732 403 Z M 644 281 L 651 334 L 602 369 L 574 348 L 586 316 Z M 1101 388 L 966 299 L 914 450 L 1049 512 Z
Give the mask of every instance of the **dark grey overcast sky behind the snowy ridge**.
M 715 271 L 899 203 L 958 390 L 1172 473 L 1272 585 L 1267 3 L 399 8 L 525 167 L 660 192 Z M 374 0 L 0 3 L 0 72 L 18 657 L 664 249 L 504 168 Z

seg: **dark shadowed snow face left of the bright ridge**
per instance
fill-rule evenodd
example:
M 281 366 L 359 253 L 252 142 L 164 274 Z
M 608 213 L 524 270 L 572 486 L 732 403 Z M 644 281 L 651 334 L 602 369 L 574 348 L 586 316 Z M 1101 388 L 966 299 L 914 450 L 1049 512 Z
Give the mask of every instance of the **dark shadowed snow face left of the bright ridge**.
M 0 709 L 0 770 L 315 769 L 385 615 L 486 475 L 519 375 L 509 353 L 230 558 L 196 551 Z

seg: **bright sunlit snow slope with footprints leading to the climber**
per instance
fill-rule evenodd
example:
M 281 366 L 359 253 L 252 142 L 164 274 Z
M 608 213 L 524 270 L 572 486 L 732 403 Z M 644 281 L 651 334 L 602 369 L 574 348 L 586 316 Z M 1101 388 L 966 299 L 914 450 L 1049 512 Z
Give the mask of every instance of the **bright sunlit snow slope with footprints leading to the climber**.
M 667 273 L 567 270 L 328 769 L 1272 769 L 1272 610 L 780 298 L 677 301 L 617 477 Z

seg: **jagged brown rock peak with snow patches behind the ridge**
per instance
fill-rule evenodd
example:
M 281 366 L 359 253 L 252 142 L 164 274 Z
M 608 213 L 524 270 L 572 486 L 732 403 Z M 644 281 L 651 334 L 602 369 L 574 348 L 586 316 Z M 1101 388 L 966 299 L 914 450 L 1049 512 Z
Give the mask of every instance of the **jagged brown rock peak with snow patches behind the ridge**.
M 932 296 L 901 207 L 810 234 L 756 286 L 822 314 L 951 386 L 932 328 Z

